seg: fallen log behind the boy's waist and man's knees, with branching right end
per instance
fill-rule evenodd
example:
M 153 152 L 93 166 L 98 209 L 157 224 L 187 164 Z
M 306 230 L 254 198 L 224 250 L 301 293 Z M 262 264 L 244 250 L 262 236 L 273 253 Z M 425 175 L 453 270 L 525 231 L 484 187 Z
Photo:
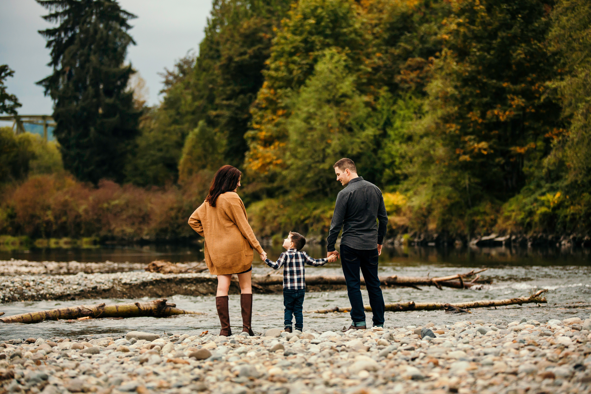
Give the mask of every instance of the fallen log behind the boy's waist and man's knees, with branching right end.
M 441 289 L 442 286 L 447 288 L 456 289 L 467 289 L 478 284 L 480 279 L 479 272 L 486 271 L 485 269 L 479 271 L 470 271 L 463 274 L 455 274 L 450 276 L 442 277 L 428 277 L 428 276 L 381 276 L 380 282 L 384 286 L 402 286 L 411 287 L 418 289 L 417 286 L 436 286 Z M 464 279 L 470 276 L 476 277 L 467 282 Z M 252 277 L 252 283 L 255 286 L 269 286 L 269 285 L 281 285 L 283 283 L 283 276 L 268 275 L 268 276 L 254 276 Z M 307 276 L 307 285 L 346 285 L 345 276 Z M 361 285 L 365 285 L 365 280 L 361 279 Z

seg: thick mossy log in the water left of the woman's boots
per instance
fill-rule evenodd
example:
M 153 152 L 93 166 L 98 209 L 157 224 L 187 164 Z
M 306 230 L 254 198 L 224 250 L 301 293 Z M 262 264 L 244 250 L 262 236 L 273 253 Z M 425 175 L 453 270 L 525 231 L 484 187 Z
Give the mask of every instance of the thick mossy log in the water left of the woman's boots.
M 60 319 L 167 317 L 202 314 L 203 312 L 184 311 L 178 309 L 174 303 L 167 303 L 166 299 L 157 299 L 149 302 L 118 303 L 115 305 L 99 303 L 98 305 L 69 306 L 68 308 L 7 316 L 0 318 L 0 321 L 4 323 L 38 323 L 44 320 Z

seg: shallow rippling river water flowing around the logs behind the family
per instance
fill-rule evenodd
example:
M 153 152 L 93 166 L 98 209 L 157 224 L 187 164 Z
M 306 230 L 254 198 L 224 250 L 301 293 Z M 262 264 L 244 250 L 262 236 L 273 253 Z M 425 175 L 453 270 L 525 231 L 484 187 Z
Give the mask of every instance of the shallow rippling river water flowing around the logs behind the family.
M 278 248 L 266 248 L 269 258 L 277 258 Z M 307 247 L 311 256 L 322 257 L 320 246 Z M 171 247 L 150 246 L 133 248 L 95 248 L 89 250 L 30 250 L 0 253 L 0 260 L 27 259 L 30 261 L 115 261 L 148 263 L 154 259 L 170 261 L 197 261 L 202 253 L 197 246 Z M 402 325 L 424 325 L 456 322 L 460 319 L 493 321 L 504 318 L 508 321 L 522 317 L 547 321 L 551 318 L 589 317 L 591 313 L 591 254 L 589 250 L 532 250 L 527 248 L 478 248 L 478 249 L 436 249 L 436 248 L 388 248 L 384 249 L 379 261 L 381 276 L 445 276 L 463 273 L 471 269 L 488 268 L 482 276 L 492 279 L 491 285 L 478 289 L 439 290 L 434 287 L 384 289 L 385 302 L 463 302 L 479 299 L 505 299 L 527 296 L 535 289 L 548 289 L 547 304 L 512 305 L 498 309 L 476 308 L 472 314 L 449 315 L 444 311 L 386 312 L 387 327 Z M 269 272 L 258 256 L 255 257 L 253 272 Z M 313 274 L 342 274 L 340 260 L 324 267 L 309 267 L 308 276 Z M 365 303 L 367 293 L 362 291 Z M 144 301 L 144 299 L 92 299 L 86 301 L 40 301 L 0 304 L 0 311 L 6 315 L 34 312 L 43 309 L 61 308 L 83 303 L 118 303 Z M 147 301 L 147 299 L 145 299 Z M 28 337 L 80 337 L 123 335 L 128 331 L 140 330 L 157 332 L 194 332 L 210 330 L 217 334 L 219 319 L 213 296 L 173 296 L 169 298 L 179 308 L 206 312 L 204 315 L 187 315 L 171 318 L 129 318 L 121 320 L 93 319 L 75 321 L 46 321 L 39 324 L 0 324 L 0 340 Z M 304 301 L 304 311 L 333 306 L 349 306 L 346 291 L 309 292 Z M 282 295 L 254 295 L 253 330 L 264 332 L 271 327 L 282 328 Z M 461 316 L 461 318 L 460 318 Z M 366 320 L 371 322 L 371 313 Z M 230 322 L 232 329 L 241 331 L 240 296 L 230 295 Z M 350 324 L 349 314 L 304 314 L 304 330 L 342 329 Z

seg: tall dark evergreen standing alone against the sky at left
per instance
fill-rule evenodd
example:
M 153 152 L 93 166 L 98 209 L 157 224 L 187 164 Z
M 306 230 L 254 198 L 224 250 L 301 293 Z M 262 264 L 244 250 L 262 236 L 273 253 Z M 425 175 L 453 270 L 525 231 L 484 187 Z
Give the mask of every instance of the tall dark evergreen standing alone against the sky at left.
M 59 26 L 39 33 L 51 49 L 53 73 L 37 82 L 54 101 L 54 135 L 64 167 L 80 180 L 121 182 L 140 112 L 128 91 L 124 66 L 128 20 L 135 15 L 113 0 L 36 0 Z

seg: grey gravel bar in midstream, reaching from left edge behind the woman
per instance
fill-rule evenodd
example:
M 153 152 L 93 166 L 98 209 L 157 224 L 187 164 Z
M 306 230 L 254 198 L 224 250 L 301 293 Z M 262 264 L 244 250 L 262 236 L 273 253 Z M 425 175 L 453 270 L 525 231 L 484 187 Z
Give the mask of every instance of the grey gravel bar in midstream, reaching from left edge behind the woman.
M 2 264 L 6 263 L 6 264 Z M 4 274 L 0 279 L 0 302 L 16 302 L 16 301 L 66 301 L 77 299 L 108 299 L 108 298 L 127 298 L 138 299 L 143 297 L 148 298 L 167 298 L 174 295 L 189 295 L 189 296 L 207 296 L 214 295 L 217 289 L 217 277 L 207 272 L 199 273 L 159 273 L 159 272 L 145 272 L 144 270 L 137 270 L 132 272 L 110 272 L 110 273 L 85 273 L 79 271 L 76 274 L 14 274 L 15 267 L 25 270 L 27 267 L 41 270 L 41 264 L 38 266 L 32 264 L 31 261 L 12 260 L 0 261 L 0 267 L 5 271 L 10 270 L 13 274 Z M 70 263 L 55 263 L 55 266 L 47 265 L 46 270 L 63 271 L 63 266 L 68 265 L 70 268 L 76 267 L 76 261 Z M 11 265 L 12 264 L 12 265 Z M 61 264 L 61 266 L 60 266 Z M 89 265 L 91 263 L 87 263 Z M 92 263 L 97 264 L 98 263 Z M 104 264 L 115 264 L 107 261 Z M 127 263 L 129 266 L 134 265 Z M 202 263 L 177 263 L 175 267 L 181 269 L 195 269 L 202 270 Z M 61 267 L 61 268 L 60 268 Z M 141 265 L 143 269 L 144 264 Z M 100 268 L 97 268 L 100 269 Z M 259 273 L 264 273 L 263 270 L 257 269 Z M 271 269 L 266 270 L 269 274 L 274 273 Z M 382 289 L 394 288 L 395 283 L 400 283 L 403 277 L 399 277 L 398 282 L 394 277 L 386 277 L 385 282 L 382 283 Z M 470 279 L 470 278 L 469 278 Z M 254 293 L 281 293 L 282 292 L 282 276 L 281 275 L 264 275 L 255 274 L 252 276 L 252 290 Z M 402 281 L 403 282 L 403 281 Z M 443 286 L 451 286 L 456 283 L 460 286 L 460 282 L 450 281 L 441 282 Z M 363 283 L 363 282 L 362 282 Z M 411 282 L 415 285 L 433 285 L 426 282 Z M 449 284 L 448 284 L 449 283 Z M 479 284 L 491 283 L 490 279 L 479 279 Z M 414 285 L 414 286 L 415 286 Z M 472 285 L 470 285 L 472 286 Z M 475 285 L 473 288 L 478 288 Z M 362 286 L 365 288 L 365 286 Z M 306 289 L 308 292 L 326 292 L 335 290 L 345 290 L 344 277 L 337 278 L 328 276 L 307 276 Z M 240 288 L 238 282 L 232 282 L 230 285 L 230 294 L 239 294 Z

